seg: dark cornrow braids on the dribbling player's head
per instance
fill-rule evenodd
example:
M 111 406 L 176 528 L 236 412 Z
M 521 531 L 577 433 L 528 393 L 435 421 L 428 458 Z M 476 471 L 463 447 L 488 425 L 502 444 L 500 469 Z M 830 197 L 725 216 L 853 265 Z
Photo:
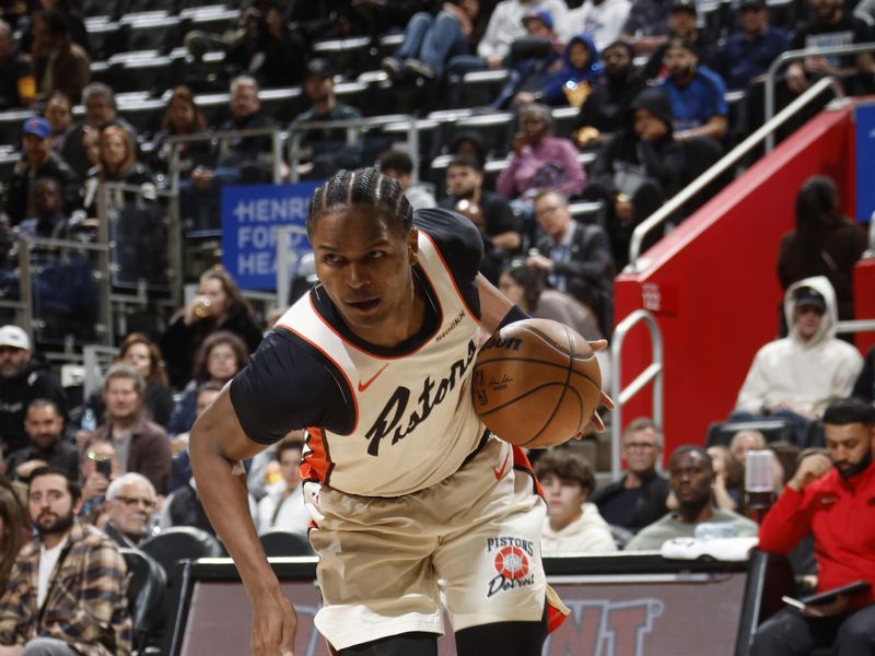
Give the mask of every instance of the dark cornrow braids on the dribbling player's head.
M 338 171 L 313 192 L 307 209 L 307 234 L 312 235 L 323 214 L 337 207 L 371 206 L 385 215 L 389 225 L 409 231 L 413 225 L 413 208 L 401 186 L 371 166 L 357 171 Z

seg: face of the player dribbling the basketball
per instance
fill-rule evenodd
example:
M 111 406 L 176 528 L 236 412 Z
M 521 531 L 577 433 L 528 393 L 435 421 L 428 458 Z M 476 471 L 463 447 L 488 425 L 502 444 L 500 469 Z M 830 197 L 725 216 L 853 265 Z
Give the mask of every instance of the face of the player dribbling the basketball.
M 349 206 L 323 214 L 311 243 L 316 274 L 355 335 L 392 343 L 394 337 L 401 341 L 419 328 L 409 329 L 416 305 L 415 229 L 405 234 L 373 208 Z

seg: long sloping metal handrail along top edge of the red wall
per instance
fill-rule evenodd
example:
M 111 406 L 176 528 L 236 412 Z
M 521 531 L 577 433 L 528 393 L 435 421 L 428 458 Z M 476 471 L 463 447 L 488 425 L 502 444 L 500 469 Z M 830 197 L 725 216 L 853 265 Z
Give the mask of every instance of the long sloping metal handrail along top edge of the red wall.
M 772 118 L 769 122 L 762 125 L 756 132 L 732 149 L 732 151 L 724 155 L 716 164 L 711 166 L 711 168 L 705 171 L 692 183 L 678 191 L 653 214 L 639 223 L 638 226 L 635 226 L 635 230 L 632 232 L 632 238 L 629 243 L 629 265 L 627 266 L 626 271 L 634 272 L 643 269 L 643 267 L 639 265 L 638 258 L 641 255 L 641 245 L 644 243 L 644 236 L 648 233 L 653 231 L 655 227 L 658 227 L 663 222 L 666 221 L 666 219 L 668 219 L 668 216 L 679 210 L 684 203 L 699 194 L 718 177 L 726 173 L 726 171 L 728 171 L 731 167 L 735 166 L 735 164 L 745 157 L 751 150 L 759 145 L 759 142 L 762 141 L 767 134 L 771 134 L 774 130 L 784 125 L 800 109 L 812 102 L 816 96 L 820 95 L 820 93 L 827 86 L 838 89 L 838 91 L 841 93 L 841 86 L 835 78 L 824 78 L 822 80 L 817 81 L 805 93 L 793 101 L 790 105 L 784 107 L 778 114 L 778 116 Z

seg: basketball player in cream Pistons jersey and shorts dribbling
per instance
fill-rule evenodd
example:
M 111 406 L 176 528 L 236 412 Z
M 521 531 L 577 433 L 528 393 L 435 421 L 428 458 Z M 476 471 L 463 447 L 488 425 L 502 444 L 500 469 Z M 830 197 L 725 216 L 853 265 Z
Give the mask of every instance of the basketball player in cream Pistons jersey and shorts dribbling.
M 486 431 L 469 399 L 482 331 L 525 314 L 478 276 L 469 221 L 415 216 L 374 168 L 317 189 L 307 234 L 319 284 L 191 432 L 198 491 L 253 605 L 253 653 L 291 654 L 296 618 L 235 462 L 307 427 L 315 622 L 335 653 L 436 654 L 443 594 L 458 654 L 540 654 L 561 621 L 545 600 L 545 504 L 523 452 Z

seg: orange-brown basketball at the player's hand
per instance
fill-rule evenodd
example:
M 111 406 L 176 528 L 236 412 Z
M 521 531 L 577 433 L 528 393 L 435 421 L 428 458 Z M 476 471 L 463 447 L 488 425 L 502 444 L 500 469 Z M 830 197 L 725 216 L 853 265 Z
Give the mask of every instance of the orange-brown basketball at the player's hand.
M 586 340 L 549 319 L 509 324 L 482 345 L 471 398 L 486 426 L 527 448 L 563 444 L 598 407 L 602 371 Z

